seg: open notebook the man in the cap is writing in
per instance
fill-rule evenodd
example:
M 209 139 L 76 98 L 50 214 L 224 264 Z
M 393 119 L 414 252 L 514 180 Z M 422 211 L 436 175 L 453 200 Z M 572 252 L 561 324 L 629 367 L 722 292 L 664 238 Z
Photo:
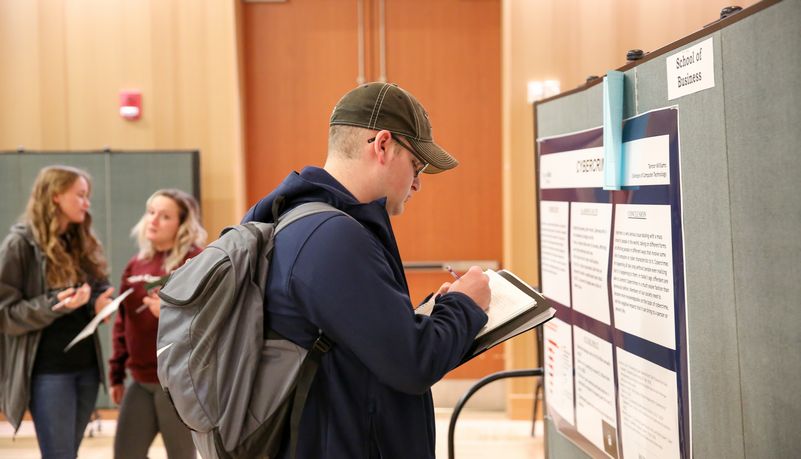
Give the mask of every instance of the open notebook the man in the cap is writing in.
M 542 325 L 556 314 L 556 310 L 541 293 L 511 271 L 504 269 L 496 272 L 488 269 L 484 274 L 489 276 L 489 287 L 492 291 L 487 310 L 488 321 L 478 332 L 465 360 Z M 429 301 L 415 309 L 415 313 L 431 315 L 434 304 L 432 296 Z

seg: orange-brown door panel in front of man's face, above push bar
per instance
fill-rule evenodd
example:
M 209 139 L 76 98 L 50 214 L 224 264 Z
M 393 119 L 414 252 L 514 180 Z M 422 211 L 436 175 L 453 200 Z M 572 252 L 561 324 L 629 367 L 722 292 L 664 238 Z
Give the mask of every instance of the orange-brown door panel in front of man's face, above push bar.
M 424 20 L 423 20 L 424 18 Z M 387 2 L 387 77 L 429 111 L 460 165 L 424 175 L 394 225 L 407 260 L 500 260 L 500 5 Z

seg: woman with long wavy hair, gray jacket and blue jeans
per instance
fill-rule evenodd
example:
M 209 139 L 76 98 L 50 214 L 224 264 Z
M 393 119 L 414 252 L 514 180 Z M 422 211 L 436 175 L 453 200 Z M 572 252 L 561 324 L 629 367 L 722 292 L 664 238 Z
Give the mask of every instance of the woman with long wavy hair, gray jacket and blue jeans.
M 64 352 L 113 290 L 91 190 L 85 171 L 42 169 L 0 246 L 0 411 L 16 430 L 30 408 L 43 458 L 76 457 L 103 373 L 97 334 Z

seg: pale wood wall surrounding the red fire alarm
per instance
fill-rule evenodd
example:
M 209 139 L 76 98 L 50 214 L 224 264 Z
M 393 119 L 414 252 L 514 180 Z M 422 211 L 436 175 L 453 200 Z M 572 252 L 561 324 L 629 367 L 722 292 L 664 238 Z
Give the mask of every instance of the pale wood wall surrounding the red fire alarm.
M 0 2 L 0 150 L 199 149 L 215 235 L 245 210 L 237 41 L 235 2 Z

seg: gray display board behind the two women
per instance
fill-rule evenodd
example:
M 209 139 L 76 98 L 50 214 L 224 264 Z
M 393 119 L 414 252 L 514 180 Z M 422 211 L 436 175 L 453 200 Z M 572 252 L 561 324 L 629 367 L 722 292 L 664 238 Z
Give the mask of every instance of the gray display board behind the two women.
M 92 177 L 92 226 L 103 243 L 115 288 L 137 251 L 130 232 L 144 213 L 147 198 L 160 188 L 179 188 L 200 197 L 197 151 L 0 152 L 1 237 L 24 212 L 39 170 L 57 164 L 81 168 Z M 111 356 L 111 325 L 99 328 L 106 360 Z M 105 365 L 108 375 L 108 362 Z M 98 407 L 109 406 L 108 394 L 101 390 Z

